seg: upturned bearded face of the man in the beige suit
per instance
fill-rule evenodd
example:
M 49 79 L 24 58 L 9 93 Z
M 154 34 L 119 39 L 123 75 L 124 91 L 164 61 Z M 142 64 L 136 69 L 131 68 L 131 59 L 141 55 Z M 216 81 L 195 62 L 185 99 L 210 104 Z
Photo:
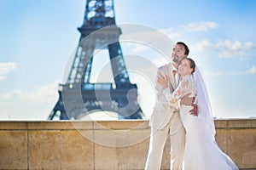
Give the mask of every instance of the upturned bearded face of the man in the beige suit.
M 186 57 L 184 46 L 182 44 L 175 44 L 172 48 L 172 61 L 179 64 Z

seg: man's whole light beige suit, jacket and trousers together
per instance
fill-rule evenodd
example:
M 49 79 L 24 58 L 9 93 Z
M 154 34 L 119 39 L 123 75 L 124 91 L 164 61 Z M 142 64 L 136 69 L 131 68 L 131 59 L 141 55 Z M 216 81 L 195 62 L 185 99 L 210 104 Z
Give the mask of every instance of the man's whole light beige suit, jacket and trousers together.
M 178 78 L 173 75 L 172 71 L 176 70 L 172 63 L 161 66 L 158 74 L 168 77 L 168 88 L 172 93 L 177 88 Z M 163 88 L 156 82 L 156 104 L 154 111 L 149 118 L 149 126 L 151 127 L 150 142 L 148 149 L 148 158 L 145 170 L 159 170 L 163 149 L 166 139 L 170 136 L 171 140 L 171 160 L 170 169 L 180 170 L 183 163 L 183 154 L 185 147 L 185 130 L 181 122 L 177 104 L 171 105 L 163 94 Z

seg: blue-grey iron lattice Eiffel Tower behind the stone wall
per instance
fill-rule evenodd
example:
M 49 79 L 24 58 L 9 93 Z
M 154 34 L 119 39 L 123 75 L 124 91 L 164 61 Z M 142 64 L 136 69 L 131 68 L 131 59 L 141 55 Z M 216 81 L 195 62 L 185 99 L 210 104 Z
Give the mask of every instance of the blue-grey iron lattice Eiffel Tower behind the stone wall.
M 113 111 L 119 119 L 141 119 L 137 85 L 131 84 L 119 44 L 113 0 L 87 0 L 79 45 L 67 82 L 60 84 L 59 99 L 49 120 L 80 120 L 95 111 Z M 108 49 L 114 83 L 90 82 L 95 50 Z

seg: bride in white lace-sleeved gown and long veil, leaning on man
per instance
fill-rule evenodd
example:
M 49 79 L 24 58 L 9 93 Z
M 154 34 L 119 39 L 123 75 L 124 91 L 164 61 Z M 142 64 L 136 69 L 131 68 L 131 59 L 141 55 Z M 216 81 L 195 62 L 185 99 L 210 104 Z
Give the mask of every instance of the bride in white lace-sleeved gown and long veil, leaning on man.
M 194 73 L 195 72 L 195 73 Z M 170 105 L 178 102 L 184 95 L 195 97 L 198 116 L 192 116 L 190 105 L 180 105 L 180 116 L 186 130 L 184 154 L 185 170 L 238 170 L 234 161 L 224 154 L 215 141 L 215 127 L 206 84 L 201 72 L 195 67 L 193 59 L 185 58 L 178 66 L 177 73 L 181 80 L 171 94 L 166 88 L 164 94 Z M 166 83 L 162 80 L 162 83 Z

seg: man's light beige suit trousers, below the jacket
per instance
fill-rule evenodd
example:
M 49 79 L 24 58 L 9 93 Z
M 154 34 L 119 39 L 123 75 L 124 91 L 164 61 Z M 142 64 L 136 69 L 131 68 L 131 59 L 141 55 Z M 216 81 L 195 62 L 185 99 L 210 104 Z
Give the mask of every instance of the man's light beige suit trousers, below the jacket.
M 160 170 L 166 139 L 170 135 L 171 170 L 181 170 L 185 149 L 185 129 L 179 112 L 174 112 L 170 121 L 161 130 L 151 127 L 148 157 L 145 170 Z

